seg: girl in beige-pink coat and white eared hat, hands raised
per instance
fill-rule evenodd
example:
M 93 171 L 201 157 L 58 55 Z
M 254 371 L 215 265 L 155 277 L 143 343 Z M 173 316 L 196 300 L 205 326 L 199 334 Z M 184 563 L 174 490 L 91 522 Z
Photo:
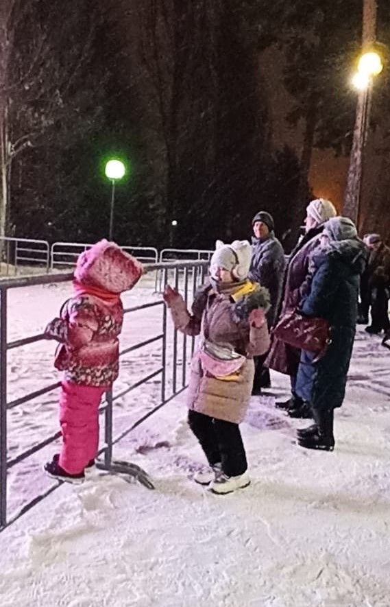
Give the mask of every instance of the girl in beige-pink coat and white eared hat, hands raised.
M 209 281 L 197 291 L 192 313 L 177 291 L 164 291 L 176 329 L 201 335 L 191 362 L 188 425 L 209 464 L 194 480 L 217 494 L 249 485 L 239 423 L 252 390 L 253 356 L 269 348 L 269 295 L 247 278 L 251 254 L 247 241 L 218 241 Z

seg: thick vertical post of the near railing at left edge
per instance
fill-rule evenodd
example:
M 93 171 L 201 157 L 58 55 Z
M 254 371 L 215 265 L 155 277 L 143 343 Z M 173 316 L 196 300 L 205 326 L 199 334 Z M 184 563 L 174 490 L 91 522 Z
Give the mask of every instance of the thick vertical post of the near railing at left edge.
M 0 527 L 7 524 L 7 289 L 0 289 Z

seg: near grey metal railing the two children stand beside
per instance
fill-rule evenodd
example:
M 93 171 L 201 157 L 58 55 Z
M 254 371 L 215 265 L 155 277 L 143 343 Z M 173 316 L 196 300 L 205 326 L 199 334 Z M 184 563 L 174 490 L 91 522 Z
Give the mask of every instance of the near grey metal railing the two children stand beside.
M 166 285 L 171 283 L 176 289 L 180 290 L 184 299 L 189 304 L 195 294 L 197 286 L 204 281 L 204 274 L 207 268 L 206 261 L 191 261 L 186 263 L 164 263 L 145 265 L 146 272 L 154 272 L 161 270 L 162 283 Z M 10 350 L 28 346 L 44 339 L 43 334 L 31 335 L 23 337 L 13 342 L 8 342 L 7 324 L 8 324 L 8 291 L 16 287 L 31 287 L 35 285 L 48 285 L 51 283 L 65 283 L 71 281 L 72 274 L 49 274 L 41 276 L 25 276 L 21 278 L 5 279 L 0 281 L 0 530 L 4 529 L 12 522 L 19 519 L 25 512 L 30 510 L 36 503 L 39 503 L 56 490 L 62 483 L 58 481 L 50 482 L 49 488 L 40 492 L 39 495 L 34 495 L 23 507 L 18 508 L 16 512 L 12 512 L 8 516 L 8 473 L 11 468 L 24 462 L 27 458 L 35 453 L 42 451 L 48 445 L 56 442 L 60 438 L 60 432 L 51 434 L 51 436 L 40 437 L 36 444 L 32 444 L 28 449 L 24 449 L 17 455 L 8 455 L 8 414 L 12 409 L 19 407 L 24 403 L 40 398 L 41 396 L 53 392 L 60 387 L 60 381 L 51 383 L 29 392 L 14 400 L 8 400 L 8 353 Z M 136 289 L 137 287 L 135 287 Z M 135 291 L 134 289 L 134 291 Z M 161 359 L 157 369 L 149 372 L 146 377 L 138 379 L 129 388 L 121 390 L 117 394 L 112 391 L 106 394 L 106 401 L 99 409 L 100 414 L 104 415 L 104 430 L 103 430 L 103 447 L 99 449 L 99 455 L 103 455 L 103 462 L 99 464 L 99 468 L 110 471 L 112 464 L 112 448 L 134 428 L 140 425 L 143 421 L 155 414 L 161 407 L 169 403 L 175 396 L 185 390 L 187 385 L 187 361 L 189 355 L 193 354 L 195 340 L 193 337 L 188 338 L 186 335 L 180 335 L 181 344 L 179 343 L 178 331 L 173 329 L 172 340 L 169 340 L 169 329 L 171 324 L 167 309 L 162 301 L 147 302 L 142 305 L 128 307 L 124 310 L 125 315 L 132 314 L 137 311 L 148 311 L 151 308 L 161 307 L 162 318 L 161 328 L 156 335 L 149 339 L 129 346 L 121 351 L 121 356 L 133 353 L 140 348 L 145 348 L 150 344 L 161 344 Z M 50 320 L 50 319 L 48 319 Z M 188 346 L 190 352 L 188 353 Z M 154 403 L 151 410 L 147 410 L 141 418 L 133 421 L 129 427 L 121 429 L 118 436 L 113 436 L 114 427 L 114 405 L 116 401 L 123 398 L 132 390 L 139 388 L 141 385 L 160 377 L 160 398 Z M 43 475 L 43 472 L 42 472 Z

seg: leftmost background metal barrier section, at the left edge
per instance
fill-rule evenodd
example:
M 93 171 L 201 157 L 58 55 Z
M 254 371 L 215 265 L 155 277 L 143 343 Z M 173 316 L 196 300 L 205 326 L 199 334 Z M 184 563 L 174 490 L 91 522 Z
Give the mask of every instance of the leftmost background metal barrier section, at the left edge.
M 17 274 L 21 265 L 44 267 L 49 272 L 50 247 L 45 240 L 0 237 L 5 276 Z

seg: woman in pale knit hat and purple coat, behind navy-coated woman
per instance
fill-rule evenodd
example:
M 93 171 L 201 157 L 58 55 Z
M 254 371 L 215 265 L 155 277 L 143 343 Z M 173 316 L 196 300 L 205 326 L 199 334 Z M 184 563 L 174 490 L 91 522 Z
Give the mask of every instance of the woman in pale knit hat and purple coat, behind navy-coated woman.
M 321 246 L 321 234 L 326 222 L 336 217 L 337 211 L 330 200 L 317 198 L 306 208 L 305 234 L 291 252 L 284 278 L 284 292 L 280 319 L 293 312 L 306 295 L 310 279 L 310 261 Z M 290 376 L 291 398 L 276 406 L 287 409 L 291 417 L 310 418 L 310 385 L 313 375 L 311 355 L 284 342 L 273 339 L 266 364 L 269 368 Z M 300 365 L 301 362 L 301 365 Z M 298 369 L 300 385 L 297 385 Z

